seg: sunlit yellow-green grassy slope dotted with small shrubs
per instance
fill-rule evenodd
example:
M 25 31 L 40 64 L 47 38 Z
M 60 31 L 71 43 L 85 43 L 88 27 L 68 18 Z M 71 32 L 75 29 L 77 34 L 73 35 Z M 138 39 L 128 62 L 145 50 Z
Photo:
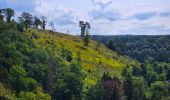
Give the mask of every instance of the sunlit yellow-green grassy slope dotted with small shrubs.
M 118 55 L 94 40 L 91 40 L 90 45 L 85 48 L 79 36 L 42 30 L 30 30 L 27 35 L 33 39 L 38 47 L 50 47 L 50 43 L 54 43 L 56 56 L 62 47 L 72 52 L 74 60 L 77 59 L 79 52 L 83 70 L 86 73 L 86 85 L 95 84 L 104 72 L 121 78 L 120 71 L 123 67 L 139 64 L 133 59 Z

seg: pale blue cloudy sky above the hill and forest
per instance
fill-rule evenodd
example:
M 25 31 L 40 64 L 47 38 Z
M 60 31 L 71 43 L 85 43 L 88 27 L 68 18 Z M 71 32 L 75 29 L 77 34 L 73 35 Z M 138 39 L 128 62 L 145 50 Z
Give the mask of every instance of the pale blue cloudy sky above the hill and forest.
M 92 35 L 170 34 L 170 0 L 0 0 L 0 8 L 46 16 L 56 31 L 78 35 L 79 21 Z M 49 28 L 49 26 L 48 26 Z

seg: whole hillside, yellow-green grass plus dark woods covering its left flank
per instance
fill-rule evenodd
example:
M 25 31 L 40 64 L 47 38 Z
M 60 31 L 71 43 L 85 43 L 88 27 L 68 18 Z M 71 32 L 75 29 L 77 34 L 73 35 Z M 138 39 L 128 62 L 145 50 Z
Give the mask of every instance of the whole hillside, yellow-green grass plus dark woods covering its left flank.
M 139 65 L 94 40 L 0 23 L 0 99 L 85 99 L 104 73 L 123 82 L 122 69 Z

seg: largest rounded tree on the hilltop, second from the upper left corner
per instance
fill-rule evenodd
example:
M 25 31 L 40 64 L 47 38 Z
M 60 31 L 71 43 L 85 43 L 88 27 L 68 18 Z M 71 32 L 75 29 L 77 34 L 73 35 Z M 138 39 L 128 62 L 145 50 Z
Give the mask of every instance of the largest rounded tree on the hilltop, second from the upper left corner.
M 33 17 L 30 13 L 23 12 L 21 14 L 21 17 L 18 17 L 18 18 L 19 18 L 20 24 L 23 24 L 25 26 L 26 30 L 32 25 Z

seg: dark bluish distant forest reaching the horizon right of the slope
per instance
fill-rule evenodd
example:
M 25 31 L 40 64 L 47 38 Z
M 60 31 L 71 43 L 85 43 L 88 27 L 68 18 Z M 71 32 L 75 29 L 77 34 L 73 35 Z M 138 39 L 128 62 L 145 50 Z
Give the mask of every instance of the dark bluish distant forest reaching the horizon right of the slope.
M 149 58 L 158 62 L 170 62 L 170 35 L 118 35 L 93 38 L 106 44 L 111 50 L 140 62 Z

